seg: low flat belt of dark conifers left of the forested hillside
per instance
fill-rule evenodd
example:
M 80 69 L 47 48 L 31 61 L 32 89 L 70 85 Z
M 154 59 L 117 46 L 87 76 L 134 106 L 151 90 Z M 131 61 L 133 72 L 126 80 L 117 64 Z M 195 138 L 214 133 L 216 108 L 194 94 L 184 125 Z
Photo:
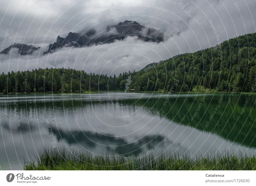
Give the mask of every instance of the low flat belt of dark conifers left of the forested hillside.
M 74 69 L 36 69 L 32 71 L 0 74 L 0 93 L 80 93 L 85 91 L 124 91 L 125 82 L 135 71 L 123 73 L 119 77 L 88 74 Z M 7 86 L 8 85 L 8 86 Z

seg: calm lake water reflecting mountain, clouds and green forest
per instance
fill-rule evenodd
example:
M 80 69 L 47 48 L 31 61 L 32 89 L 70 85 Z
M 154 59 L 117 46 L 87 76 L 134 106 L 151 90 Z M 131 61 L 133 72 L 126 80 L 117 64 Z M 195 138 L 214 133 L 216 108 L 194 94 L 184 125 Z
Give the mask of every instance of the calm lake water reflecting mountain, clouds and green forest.
M 0 169 L 23 169 L 24 159 L 44 147 L 123 156 L 252 155 L 255 101 L 256 95 L 236 94 L 0 96 Z

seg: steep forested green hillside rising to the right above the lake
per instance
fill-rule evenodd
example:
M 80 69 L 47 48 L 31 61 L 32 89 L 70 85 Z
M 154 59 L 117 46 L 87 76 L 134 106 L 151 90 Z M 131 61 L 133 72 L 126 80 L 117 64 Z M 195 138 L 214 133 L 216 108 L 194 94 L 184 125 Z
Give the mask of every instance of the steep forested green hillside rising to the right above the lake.
M 136 91 L 205 92 L 208 88 L 239 93 L 256 92 L 255 85 L 256 33 L 249 33 L 138 71 L 130 87 Z

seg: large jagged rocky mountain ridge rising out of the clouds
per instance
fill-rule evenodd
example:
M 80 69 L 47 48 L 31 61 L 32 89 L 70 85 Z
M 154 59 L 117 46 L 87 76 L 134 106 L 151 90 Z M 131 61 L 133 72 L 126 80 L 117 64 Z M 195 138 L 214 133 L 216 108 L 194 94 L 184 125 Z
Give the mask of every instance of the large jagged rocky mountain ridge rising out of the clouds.
M 57 37 L 57 41 L 49 45 L 44 54 L 54 52 L 61 47 L 85 47 L 93 44 L 112 43 L 116 40 L 124 40 L 127 36 L 137 36 L 142 41 L 161 42 L 164 41 L 163 33 L 146 28 L 136 21 L 124 21 L 114 26 L 107 26 L 106 30 L 97 34 L 95 29 L 85 33 L 69 32 L 65 38 Z

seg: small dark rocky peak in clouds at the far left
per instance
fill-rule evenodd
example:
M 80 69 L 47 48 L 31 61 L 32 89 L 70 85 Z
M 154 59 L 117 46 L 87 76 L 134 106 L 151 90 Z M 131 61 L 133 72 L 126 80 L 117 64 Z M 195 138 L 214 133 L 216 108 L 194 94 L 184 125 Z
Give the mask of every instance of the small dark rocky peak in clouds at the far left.
M 18 53 L 20 55 L 26 55 L 26 54 L 32 54 L 32 52 L 34 52 L 35 50 L 39 49 L 40 47 L 35 47 L 33 45 L 26 45 L 26 44 L 20 44 L 20 43 L 14 43 L 12 44 L 10 47 L 5 48 L 2 52 L 2 54 L 8 54 L 9 51 L 12 48 L 18 48 Z

